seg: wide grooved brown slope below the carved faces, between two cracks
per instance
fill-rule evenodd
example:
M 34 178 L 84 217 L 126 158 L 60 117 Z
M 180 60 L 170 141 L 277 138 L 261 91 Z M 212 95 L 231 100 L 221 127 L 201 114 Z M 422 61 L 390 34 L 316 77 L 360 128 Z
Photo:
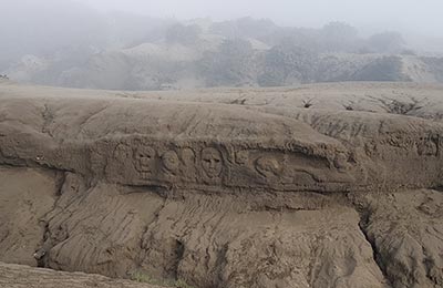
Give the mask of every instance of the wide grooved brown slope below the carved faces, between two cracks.
M 359 215 L 328 197 L 164 198 L 104 184 L 74 192 L 72 182 L 48 215 L 48 267 L 117 277 L 142 269 L 198 287 L 384 287 Z

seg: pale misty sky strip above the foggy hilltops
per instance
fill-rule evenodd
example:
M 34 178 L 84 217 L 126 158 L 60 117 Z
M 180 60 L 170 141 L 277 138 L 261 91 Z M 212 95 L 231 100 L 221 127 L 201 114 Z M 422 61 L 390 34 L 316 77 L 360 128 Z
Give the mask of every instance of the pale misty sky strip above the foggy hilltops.
M 62 1 L 62 0 L 60 0 Z M 346 21 L 364 32 L 402 30 L 443 37 L 443 0 L 75 0 L 101 11 L 216 20 L 245 16 L 282 25 L 321 27 Z

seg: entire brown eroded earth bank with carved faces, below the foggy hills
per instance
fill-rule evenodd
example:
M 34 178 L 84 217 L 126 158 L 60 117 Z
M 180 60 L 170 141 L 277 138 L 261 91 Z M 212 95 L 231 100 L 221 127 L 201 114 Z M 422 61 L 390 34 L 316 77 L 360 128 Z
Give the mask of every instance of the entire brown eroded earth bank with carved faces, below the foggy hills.
M 442 287 L 442 95 L 3 81 L 0 260 L 199 288 Z

